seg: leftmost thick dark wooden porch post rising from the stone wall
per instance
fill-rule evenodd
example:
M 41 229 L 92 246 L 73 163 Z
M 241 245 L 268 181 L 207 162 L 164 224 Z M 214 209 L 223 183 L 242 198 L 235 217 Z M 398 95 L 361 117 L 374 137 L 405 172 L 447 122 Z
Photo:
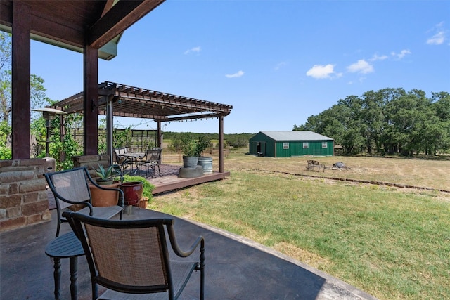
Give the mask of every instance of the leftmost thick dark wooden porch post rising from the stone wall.
M 13 1 L 11 82 L 12 158 L 30 158 L 30 6 Z

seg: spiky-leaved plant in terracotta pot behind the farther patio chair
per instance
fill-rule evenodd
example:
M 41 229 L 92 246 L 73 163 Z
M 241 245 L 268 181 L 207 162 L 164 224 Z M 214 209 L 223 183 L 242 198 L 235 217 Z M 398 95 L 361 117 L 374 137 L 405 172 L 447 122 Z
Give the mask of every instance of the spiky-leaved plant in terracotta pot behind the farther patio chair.
M 117 167 L 117 165 L 111 165 L 105 169 L 101 164 L 98 164 L 98 169 L 96 169 L 96 174 L 99 176 L 99 178 L 96 178 L 97 185 L 107 189 L 118 189 L 120 181 L 114 181 L 113 178 L 114 176 L 120 175 L 120 171 Z M 117 205 L 119 192 L 117 190 L 104 190 L 102 188 L 89 184 L 92 205 L 94 207 L 110 207 Z

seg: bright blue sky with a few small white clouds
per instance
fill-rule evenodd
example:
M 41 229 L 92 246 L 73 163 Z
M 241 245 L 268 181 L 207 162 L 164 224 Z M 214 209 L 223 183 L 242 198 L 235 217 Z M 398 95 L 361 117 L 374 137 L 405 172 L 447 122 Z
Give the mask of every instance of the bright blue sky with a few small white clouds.
M 83 88 L 82 54 L 32 41 L 47 96 Z M 233 105 L 225 133 L 291 131 L 347 96 L 450 92 L 450 1 L 167 0 L 100 60 L 113 81 Z M 151 120 L 115 126 L 155 129 Z M 218 132 L 217 119 L 165 131 Z

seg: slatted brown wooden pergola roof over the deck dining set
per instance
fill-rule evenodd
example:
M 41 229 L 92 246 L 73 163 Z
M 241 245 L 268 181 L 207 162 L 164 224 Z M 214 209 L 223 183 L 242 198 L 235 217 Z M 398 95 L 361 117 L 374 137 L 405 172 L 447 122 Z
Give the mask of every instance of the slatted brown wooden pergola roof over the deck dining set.
M 84 93 L 79 92 L 53 105 L 64 112 L 83 112 Z M 139 117 L 155 122 L 205 119 L 229 115 L 232 105 L 214 103 L 171 93 L 152 91 L 125 84 L 105 81 L 98 84 L 98 115 L 107 115 L 110 99 L 115 117 Z

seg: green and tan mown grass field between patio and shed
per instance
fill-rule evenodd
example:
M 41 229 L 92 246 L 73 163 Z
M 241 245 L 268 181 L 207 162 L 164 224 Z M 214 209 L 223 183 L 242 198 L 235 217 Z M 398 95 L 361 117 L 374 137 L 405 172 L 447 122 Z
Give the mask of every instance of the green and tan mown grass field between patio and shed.
M 306 170 L 307 157 L 231 152 L 231 176 L 155 197 L 151 208 L 265 244 L 380 299 L 450 299 L 450 161 L 315 157 L 344 171 Z M 309 177 L 299 175 L 314 175 Z

